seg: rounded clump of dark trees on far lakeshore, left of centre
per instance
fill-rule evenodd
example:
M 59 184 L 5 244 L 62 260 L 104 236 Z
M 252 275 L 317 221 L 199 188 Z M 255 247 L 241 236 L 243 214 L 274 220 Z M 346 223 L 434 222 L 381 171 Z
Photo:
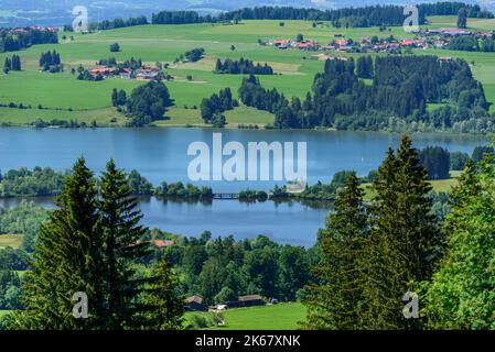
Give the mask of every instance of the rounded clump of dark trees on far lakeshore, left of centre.
M 172 103 L 169 89 L 161 81 L 149 81 L 134 88 L 126 103 L 132 119 L 130 125 L 143 127 L 163 119 L 166 108 Z

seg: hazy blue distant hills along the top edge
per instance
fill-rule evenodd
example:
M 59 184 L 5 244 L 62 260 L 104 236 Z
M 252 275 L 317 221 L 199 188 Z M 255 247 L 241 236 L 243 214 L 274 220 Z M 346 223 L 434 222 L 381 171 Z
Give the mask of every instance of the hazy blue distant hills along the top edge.
M 195 10 L 215 13 L 256 6 L 313 7 L 335 9 L 363 7 L 366 4 L 406 4 L 411 2 L 429 2 L 426 0 L 0 0 L 0 26 L 24 25 L 64 25 L 72 23 L 72 9 L 85 6 L 89 20 L 101 21 L 115 18 L 129 18 L 151 13 L 159 10 Z M 433 1 L 432 1 L 433 2 Z M 467 3 L 480 3 L 483 8 L 495 10 L 495 0 L 467 0 Z

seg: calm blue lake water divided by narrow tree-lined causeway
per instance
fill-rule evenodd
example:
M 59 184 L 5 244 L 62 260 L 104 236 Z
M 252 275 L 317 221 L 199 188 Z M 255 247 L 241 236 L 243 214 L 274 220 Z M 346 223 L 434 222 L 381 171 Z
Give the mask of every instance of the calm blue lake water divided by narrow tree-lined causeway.
M 66 169 L 84 155 L 96 173 L 109 158 L 127 170 L 137 169 L 150 182 L 184 182 L 187 178 L 187 146 L 197 141 L 212 145 L 211 129 L 0 129 L 0 169 L 25 166 L 50 166 Z M 216 131 L 220 132 L 220 131 Z M 342 169 L 355 169 L 364 176 L 383 161 L 388 146 L 397 147 L 399 134 L 374 132 L 314 131 L 222 131 L 223 142 L 306 142 L 308 180 L 330 182 Z M 472 153 L 476 145 L 486 144 L 481 136 L 443 134 L 412 135 L 416 147 L 440 145 L 449 151 Z M 280 182 L 211 182 L 202 183 L 214 191 L 239 189 L 271 189 Z M 198 184 L 198 185 L 202 185 Z M 3 200 L 0 205 L 12 205 Z M 50 206 L 51 199 L 37 200 Z M 209 230 L 214 235 L 234 234 L 251 238 L 267 234 L 283 243 L 312 245 L 318 229 L 324 224 L 327 209 L 314 209 L 300 204 L 241 204 L 215 200 L 209 205 L 163 202 L 155 198 L 141 199 L 147 226 L 174 233 L 198 235 Z

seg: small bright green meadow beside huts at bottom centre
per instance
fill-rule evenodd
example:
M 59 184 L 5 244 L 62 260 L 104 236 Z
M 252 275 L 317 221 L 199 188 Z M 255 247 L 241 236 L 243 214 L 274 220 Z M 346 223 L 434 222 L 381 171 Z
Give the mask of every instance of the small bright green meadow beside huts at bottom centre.
M 198 312 L 187 312 L 185 318 L 192 315 Z M 298 321 L 304 318 L 305 307 L 300 302 L 227 309 L 224 312 L 226 324 L 212 330 L 295 330 Z

